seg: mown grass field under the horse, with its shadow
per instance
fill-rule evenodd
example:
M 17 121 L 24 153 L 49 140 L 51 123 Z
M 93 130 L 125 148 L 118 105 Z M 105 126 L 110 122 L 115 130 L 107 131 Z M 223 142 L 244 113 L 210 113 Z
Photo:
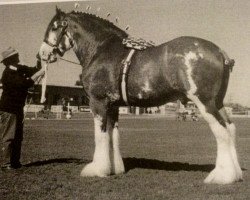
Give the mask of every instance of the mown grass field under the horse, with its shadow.
M 93 120 L 28 120 L 23 168 L 0 171 L 0 199 L 250 199 L 250 119 L 234 120 L 244 181 L 206 185 L 215 139 L 204 121 L 121 117 L 126 173 L 82 178 L 94 151 Z

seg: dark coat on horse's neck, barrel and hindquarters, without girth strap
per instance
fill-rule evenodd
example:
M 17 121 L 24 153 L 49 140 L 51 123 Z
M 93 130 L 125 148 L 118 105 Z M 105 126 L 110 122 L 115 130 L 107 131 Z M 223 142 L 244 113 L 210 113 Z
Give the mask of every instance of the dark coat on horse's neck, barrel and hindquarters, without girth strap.
M 83 66 L 82 82 L 90 101 L 105 100 L 108 106 L 125 105 L 121 98 L 120 76 L 121 63 L 130 51 L 122 44 L 127 33 L 94 15 L 65 14 L 57 10 L 46 31 L 45 41 L 53 30 L 54 21 L 68 23 L 67 31 L 72 35 L 74 51 Z M 54 32 L 60 35 L 62 29 Z M 64 50 L 63 44 L 61 47 Z M 190 58 L 187 66 L 185 59 L 189 53 L 195 58 Z M 195 37 L 180 37 L 137 51 L 127 74 L 129 104 L 159 106 L 177 99 L 185 103 L 191 89 L 188 80 L 188 73 L 191 73 L 197 86 L 195 95 L 204 104 L 215 100 L 220 109 L 229 78 L 224 59 L 219 47 Z

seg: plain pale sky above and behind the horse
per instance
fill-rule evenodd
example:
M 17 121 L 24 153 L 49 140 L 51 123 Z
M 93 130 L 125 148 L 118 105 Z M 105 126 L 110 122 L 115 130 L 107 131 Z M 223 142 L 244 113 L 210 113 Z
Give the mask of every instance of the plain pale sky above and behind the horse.
M 8 4 L 6 4 L 6 2 Z M 30 3 L 33 2 L 33 3 Z M 39 2 L 39 3 L 37 3 Z M 50 1 L 52 2 L 52 1 Z M 235 60 L 225 102 L 250 107 L 250 1 L 249 0 L 102 0 L 102 1 L 3 1 L 0 0 L 0 52 L 12 46 L 22 63 L 34 66 L 45 30 L 58 6 L 65 12 L 86 11 L 106 18 L 129 35 L 161 44 L 179 36 L 209 40 Z M 100 11 L 98 12 L 98 8 Z M 73 52 L 64 58 L 77 62 Z M 0 65 L 0 75 L 4 69 Z M 73 86 L 81 67 L 59 61 L 49 66 L 48 84 Z

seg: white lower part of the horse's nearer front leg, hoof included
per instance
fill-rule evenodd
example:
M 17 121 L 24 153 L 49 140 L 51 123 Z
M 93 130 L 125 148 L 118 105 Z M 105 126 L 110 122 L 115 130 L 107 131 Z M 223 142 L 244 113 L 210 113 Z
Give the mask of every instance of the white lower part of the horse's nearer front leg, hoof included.
M 87 164 L 81 176 L 105 177 L 111 173 L 111 163 L 109 157 L 109 134 L 101 130 L 102 119 L 94 118 L 95 124 L 95 153 L 93 161 Z

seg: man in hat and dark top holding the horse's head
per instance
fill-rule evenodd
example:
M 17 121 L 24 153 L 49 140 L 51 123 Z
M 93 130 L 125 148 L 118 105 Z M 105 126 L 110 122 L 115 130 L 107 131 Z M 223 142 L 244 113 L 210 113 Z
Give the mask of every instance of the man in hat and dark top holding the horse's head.
M 2 169 L 17 169 L 23 140 L 23 108 L 28 88 L 44 75 L 38 60 L 36 67 L 19 64 L 18 52 L 9 47 L 2 52 L 5 70 L 2 74 L 3 92 L 0 99 L 0 134 L 2 134 Z

